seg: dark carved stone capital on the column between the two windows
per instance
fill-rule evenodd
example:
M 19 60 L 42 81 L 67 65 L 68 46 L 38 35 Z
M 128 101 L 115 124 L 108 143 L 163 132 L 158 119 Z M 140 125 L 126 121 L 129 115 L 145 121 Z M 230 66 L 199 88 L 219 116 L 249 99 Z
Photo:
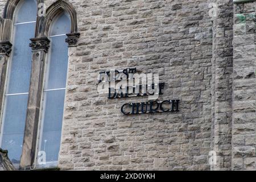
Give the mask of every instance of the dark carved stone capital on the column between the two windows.
M 33 38 L 30 39 L 30 47 L 32 51 L 44 51 L 48 52 L 50 40 L 47 38 Z

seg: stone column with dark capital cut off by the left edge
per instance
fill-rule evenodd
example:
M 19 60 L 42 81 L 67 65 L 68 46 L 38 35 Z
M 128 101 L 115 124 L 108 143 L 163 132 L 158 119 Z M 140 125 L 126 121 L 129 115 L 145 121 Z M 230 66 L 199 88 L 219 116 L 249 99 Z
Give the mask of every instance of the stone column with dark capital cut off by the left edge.
M 6 70 L 7 70 L 7 61 L 11 53 L 11 47 L 13 45 L 8 42 L 0 42 L 0 105 L 2 106 L 3 96 L 5 91 L 5 80 L 6 80 Z M 0 107 L 1 113 L 2 107 Z

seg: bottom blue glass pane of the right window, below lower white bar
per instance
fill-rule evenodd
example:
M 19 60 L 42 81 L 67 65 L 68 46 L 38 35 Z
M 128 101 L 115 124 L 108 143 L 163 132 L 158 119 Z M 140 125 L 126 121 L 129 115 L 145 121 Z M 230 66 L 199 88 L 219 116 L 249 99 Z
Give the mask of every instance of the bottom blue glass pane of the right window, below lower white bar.
M 45 108 L 43 137 L 40 150 L 46 152 L 47 162 L 58 160 L 63 120 L 65 90 L 44 92 Z

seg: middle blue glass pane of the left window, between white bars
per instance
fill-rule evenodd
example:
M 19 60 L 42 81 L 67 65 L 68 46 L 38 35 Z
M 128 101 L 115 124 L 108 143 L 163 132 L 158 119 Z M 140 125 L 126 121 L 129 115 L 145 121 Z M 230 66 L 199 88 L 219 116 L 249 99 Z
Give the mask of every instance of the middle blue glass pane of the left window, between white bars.
M 35 23 L 15 25 L 13 60 L 10 64 L 7 94 L 28 93 L 32 61 L 32 52 L 28 45 L 34 32 Z

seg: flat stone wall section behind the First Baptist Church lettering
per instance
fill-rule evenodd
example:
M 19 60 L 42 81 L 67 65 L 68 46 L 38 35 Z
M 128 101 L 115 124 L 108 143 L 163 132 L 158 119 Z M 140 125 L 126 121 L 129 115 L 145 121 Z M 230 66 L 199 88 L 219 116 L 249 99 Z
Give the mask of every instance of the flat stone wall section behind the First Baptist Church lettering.
M 70 51 L 62 169 L 206 170 L 211 134 L 212 22 L 201 1 L 77 1 L 79 46 Z M 108 100 L 97 76 L 111 68 L 159 73 L 159 100 L 180 113 L 125 116 L 145 98 Z

